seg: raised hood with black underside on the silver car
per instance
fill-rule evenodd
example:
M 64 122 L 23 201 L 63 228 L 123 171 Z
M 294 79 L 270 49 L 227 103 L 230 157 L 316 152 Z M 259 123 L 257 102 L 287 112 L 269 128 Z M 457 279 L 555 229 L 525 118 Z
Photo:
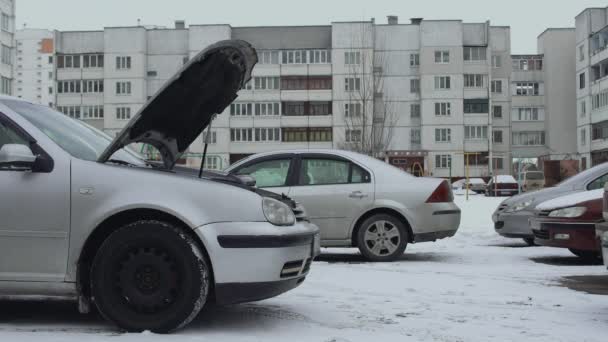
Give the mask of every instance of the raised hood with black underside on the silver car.
M 97 161 L 105 163 L 129 144 L 147 143 L 172 169 L 213 117 L 236 99 L 256 63 L 255 49 L 241 40 L 207 47 L 148 100 Z

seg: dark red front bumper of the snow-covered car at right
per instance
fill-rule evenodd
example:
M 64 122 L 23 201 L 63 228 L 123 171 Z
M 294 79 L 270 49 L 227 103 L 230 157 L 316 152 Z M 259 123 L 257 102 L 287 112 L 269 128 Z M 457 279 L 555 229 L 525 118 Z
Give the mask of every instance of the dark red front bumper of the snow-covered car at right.
M 541 246 L 599 251 L 593 222 L 561 222 L 532 218 L 534 242 Z

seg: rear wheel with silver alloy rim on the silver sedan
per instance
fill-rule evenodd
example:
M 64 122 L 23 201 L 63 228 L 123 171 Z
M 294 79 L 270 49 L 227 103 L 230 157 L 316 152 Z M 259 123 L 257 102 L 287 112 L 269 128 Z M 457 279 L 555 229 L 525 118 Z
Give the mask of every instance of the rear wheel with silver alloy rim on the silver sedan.
M 405 225 L 388 214 L 369 217 L 357 231 L 357 246 L 370 261 L 394 261 L 403 254 L 408 241 L 409 234 Z

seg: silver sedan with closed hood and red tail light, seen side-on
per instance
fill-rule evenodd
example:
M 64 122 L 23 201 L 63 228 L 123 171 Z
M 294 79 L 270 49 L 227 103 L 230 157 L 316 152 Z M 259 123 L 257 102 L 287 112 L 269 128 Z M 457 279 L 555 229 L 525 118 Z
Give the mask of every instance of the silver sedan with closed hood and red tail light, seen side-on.
M 394 260 L 408 243 L 453 236 L 460 224 L 450 184 L 416 178 L 375 158 L 340 150 L 262 153 L 226 172 L 301 202 L 326 247 L 359 247 Z

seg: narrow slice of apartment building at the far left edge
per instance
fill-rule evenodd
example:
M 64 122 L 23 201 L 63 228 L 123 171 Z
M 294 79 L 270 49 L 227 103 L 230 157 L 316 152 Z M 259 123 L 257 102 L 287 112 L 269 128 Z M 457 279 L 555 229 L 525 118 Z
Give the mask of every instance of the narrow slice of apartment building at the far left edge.
M 15 0 L 0 0 L 0 94 L 13 92 Z

